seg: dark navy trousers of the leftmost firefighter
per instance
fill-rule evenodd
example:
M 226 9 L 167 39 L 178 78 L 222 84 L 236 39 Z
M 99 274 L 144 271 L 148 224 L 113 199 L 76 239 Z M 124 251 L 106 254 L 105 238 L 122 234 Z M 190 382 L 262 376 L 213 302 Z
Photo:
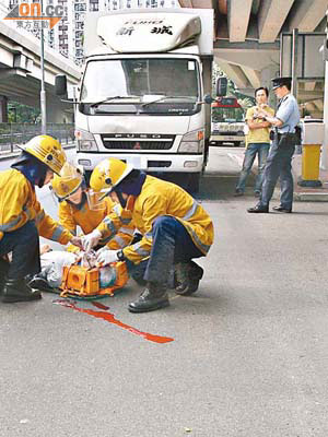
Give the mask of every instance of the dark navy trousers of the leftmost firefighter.
M 20 280 L 40 271 L 39 238 L 34 222 L 16 231 L 4 233 L 0 240 L 0 256 L 12 252 L 8 277 Z

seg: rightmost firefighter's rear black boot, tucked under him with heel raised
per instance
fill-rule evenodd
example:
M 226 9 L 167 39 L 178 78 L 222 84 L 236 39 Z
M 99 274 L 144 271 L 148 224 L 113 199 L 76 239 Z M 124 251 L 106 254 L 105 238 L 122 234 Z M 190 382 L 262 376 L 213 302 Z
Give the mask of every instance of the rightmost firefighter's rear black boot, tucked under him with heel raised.
M 190 296 L 190 294 L 197 292 L 202 275 L 202 268 L 194 261 L 179 262 L 178 264 L 175 264 L 175 276 L 177 282 L 175 293 L 181 296 Z

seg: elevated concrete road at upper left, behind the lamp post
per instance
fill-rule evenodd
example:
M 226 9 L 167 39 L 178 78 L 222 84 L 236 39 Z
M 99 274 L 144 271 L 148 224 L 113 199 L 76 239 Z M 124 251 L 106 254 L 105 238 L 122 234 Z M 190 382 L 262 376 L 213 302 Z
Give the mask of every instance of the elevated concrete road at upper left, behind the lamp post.
M 55 95 L 56 74 L 67 74 L 68 83 L 75 85 L 80 69 L 57 51 L 45 46 L 45 87 L 47 119 L 69 122 L 72 105 L 60 102 Z M 39 106 L 40 42 L 14 24 L 0 20 L 0 122 L 7 121 L 8 101 Z

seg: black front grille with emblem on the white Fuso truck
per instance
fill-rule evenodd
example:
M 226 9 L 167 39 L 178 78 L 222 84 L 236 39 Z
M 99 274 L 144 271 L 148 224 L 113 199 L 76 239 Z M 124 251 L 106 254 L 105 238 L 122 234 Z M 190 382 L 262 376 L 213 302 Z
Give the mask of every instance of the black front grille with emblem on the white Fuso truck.
M 160 151 L 169 150 L 173 146 L 175 135 L 153 135 L 131 138 L 125 134 L 103 134 L 104 147 L 109 150 L 133 150 L 138 151 Z

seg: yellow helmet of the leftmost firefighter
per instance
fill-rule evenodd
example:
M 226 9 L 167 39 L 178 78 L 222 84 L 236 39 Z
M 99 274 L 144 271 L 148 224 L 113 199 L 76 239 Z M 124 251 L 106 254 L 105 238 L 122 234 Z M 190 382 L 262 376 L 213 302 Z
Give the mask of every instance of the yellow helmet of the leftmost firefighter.
M 59 175 L 61 167 L 66 163 L 66 154 L 59 141 L 49 135 L 37 135 L 24 145 L 19 145 L 37 160 L 46 164 L 52 172 Z

